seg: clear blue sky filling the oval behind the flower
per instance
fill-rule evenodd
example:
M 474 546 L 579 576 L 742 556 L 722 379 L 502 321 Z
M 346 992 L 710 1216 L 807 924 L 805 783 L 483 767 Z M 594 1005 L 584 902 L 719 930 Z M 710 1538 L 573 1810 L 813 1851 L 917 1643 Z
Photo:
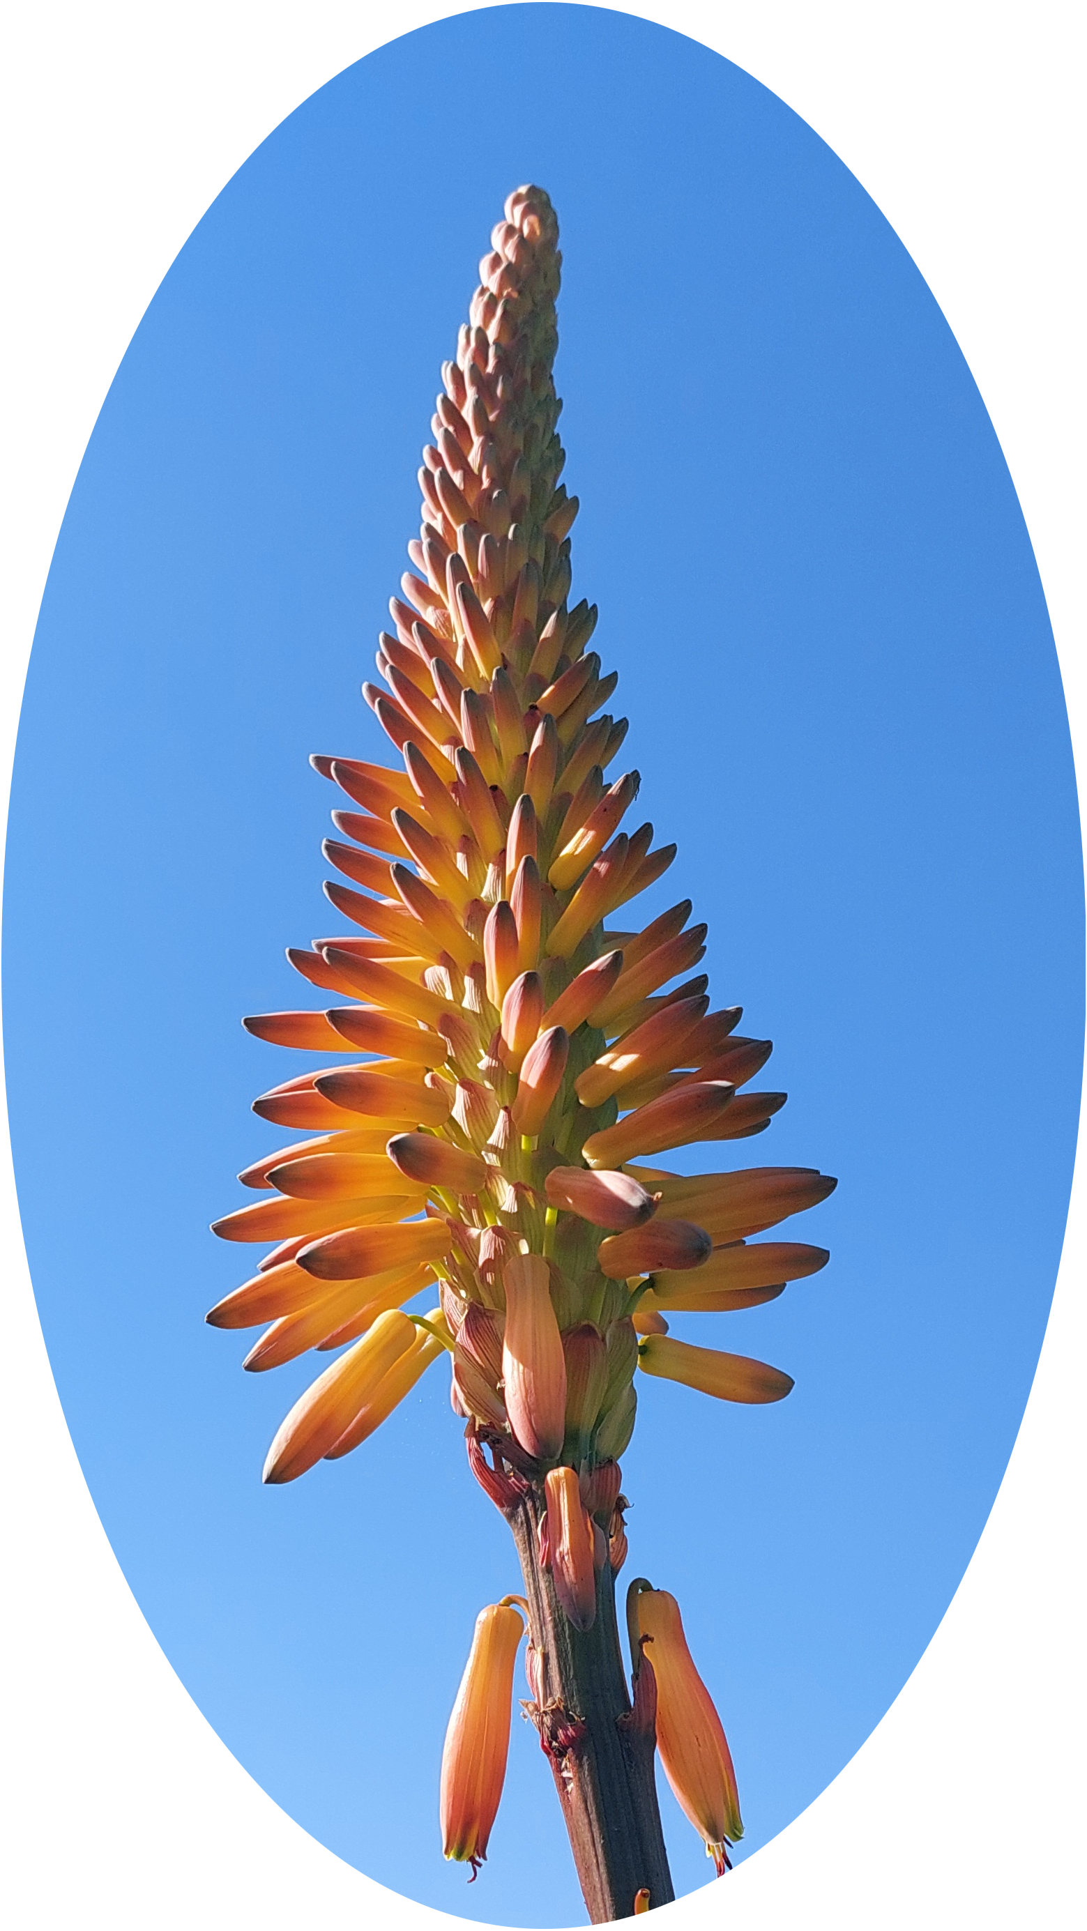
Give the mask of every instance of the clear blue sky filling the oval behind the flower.
M 332 788 L 419 521 L 442 357 L 506 193 L 562 226 L 573 599 L 620 670 L 653 910 L 709 919 L 714 1004 L 790 1105 L 726 1164 L 805 1164 L 832 1249 L 674 1332 L 795 1377 L 745 1410 L 643 1383 L 631 1568 L 682 1603 L 749 1854 L 863 1744 L 963 1574 L 1035 1371 L 1079 1103 L 1068 720 L 1016 490 L 865 189 L 658 25 L 516 6 L 307 100 L 151 303 L 68 508 L 21 718 L 8 1076 L 42 1327 L 95 1502 L 170 1663 L 270 1796 L 394 1890 L 583 1923 L 535 1732 L 490 1861 L 440 1858 L 477 1610 L 517 1587 L 440 1369 L 357 1454 L 261 1487 L 313 1357 L 239 1371 L 210 1218 L 307 1060 L 243 1012 L 338 929 Z M 687 1168 L 720 1159 L 689 1153 Z M 257 1249 L 259 1251 L 259 1249 Z M 519 1695 L 527 1690 L 519 1686 Z M 662 1788 L 678 1890 L 709 1879 Z

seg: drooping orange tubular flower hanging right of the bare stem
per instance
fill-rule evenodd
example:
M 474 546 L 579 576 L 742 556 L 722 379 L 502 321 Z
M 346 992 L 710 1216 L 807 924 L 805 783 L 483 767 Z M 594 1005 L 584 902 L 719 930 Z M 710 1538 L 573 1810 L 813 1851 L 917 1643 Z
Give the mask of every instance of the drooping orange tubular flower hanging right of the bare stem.
M 666 1589 L 643 1589 L 637 1628 L 649 1637 L 645 1655 L 656 1678 L 656 1748 L 664 1775 L 720 1875 L 724 1846 L 743 1836 L 720 1717 L 691 1661 L 676 1597 Z

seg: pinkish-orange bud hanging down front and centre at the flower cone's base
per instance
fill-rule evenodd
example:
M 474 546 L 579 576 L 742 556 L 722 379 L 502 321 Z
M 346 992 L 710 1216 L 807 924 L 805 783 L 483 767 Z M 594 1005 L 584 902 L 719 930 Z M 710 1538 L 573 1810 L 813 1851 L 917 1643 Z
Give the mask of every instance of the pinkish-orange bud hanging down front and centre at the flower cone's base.
M 550 1300 L 550 1269 L 539 1253 L 519 1253 L 502 1269 L 506 1330 L 502 1379 L 506 1412 L 521 1448 L 546 1462 L 566 1429 L 566 1356 Z

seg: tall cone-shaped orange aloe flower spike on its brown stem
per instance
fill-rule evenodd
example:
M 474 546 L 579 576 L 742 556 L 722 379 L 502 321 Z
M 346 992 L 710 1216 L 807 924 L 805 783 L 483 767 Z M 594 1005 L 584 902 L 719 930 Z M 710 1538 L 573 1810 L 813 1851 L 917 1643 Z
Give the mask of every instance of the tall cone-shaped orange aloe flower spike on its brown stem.
M 738 1031 L 738 1006 L 711 1010 L 691 902 L 637 910 L 676 848 L 635 823 L 627 724 L 604 709 L 616 672 L 591 649 L 597 608 L 571 601 L 556 239 L 543 189 L 510 195 L 442 369 L 423 521 L 363 686 L 388 763 L 313 759 L 342 794 L 324 890 L 344 929 L 288 950 L 305 1010 L 245 1020 L 319 1064 L 255 1101 L 301 1137 L 253 1162 L 257 1199 L 214 1224 L 270 1251 L 209 1321 L 265 1327 L 249 1371 L 346 1350 L 280 1427 L 270 1483 L 353 1452 L 448 1357 L 469 1468 L 521 1560 L 529 1713 L 589 1916 L 610 1921 L 672 1898 L 651 1674 L 631 1707 L 614 1612 L 635 1381 L 786 1394 L 788 1375 L 691 1348 L 664 1311 L 738 1311 L 822 1267 L 824 1249 L 747 1242 L 834 1182 L 641 1164 L 761 1133 L 784 1093 L 749 1091 L 770 1043 Z M 429 1315 L 405 1311 L 434 1284 Z M 517 1614 L 485 1616 L 508 1645 Z M 442 1777 L 446 1854 L 473 1865 L 504 1763 L 494 1746 L 469 1800 L 465 1738 L 490 1707 L 477 1641 Z

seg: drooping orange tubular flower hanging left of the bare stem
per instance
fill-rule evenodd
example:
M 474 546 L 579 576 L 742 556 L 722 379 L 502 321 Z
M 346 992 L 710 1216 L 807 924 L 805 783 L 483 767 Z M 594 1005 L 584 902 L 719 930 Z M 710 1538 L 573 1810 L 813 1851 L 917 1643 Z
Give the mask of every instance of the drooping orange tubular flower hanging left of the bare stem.
M 510 1749 L 514 1663 L 523 1622 L 512 1603 L 492 1603 L 475 1618 L 471 1653 L 461 1676 L 442 1751 L 442 1852 L 473 1871 L 487 1844 Z

